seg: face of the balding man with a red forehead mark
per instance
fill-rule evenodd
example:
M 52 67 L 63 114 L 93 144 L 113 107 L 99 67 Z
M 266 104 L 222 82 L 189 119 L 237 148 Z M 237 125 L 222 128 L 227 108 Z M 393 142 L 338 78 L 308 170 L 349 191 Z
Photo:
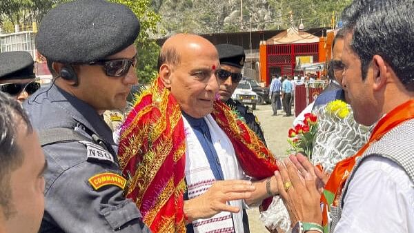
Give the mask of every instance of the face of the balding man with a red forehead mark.
M 171 70 L 171 94 L 186 114 L 204 117 L 213 111 L 219 90 L 217 50 L 214 45 L 190 43 L 180 51 L 181 61 Z

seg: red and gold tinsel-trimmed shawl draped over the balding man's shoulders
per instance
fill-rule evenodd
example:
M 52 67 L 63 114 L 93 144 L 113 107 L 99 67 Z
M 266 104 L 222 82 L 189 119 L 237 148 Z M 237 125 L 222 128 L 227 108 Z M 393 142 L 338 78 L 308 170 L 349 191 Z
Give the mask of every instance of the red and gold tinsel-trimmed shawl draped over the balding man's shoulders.
M 248 176 L 259 180 L 273 175 L 277 170 L 273 155 L 235 112 L 215 101 L 211 115 L 233 143 Z M 181 110 L 157 79 L 139 95 L 122 126 L 118 155 L 128 178 L 126 196 L 135 201 L 152 232 L 186 232 L 185 152 Z M 270 201 L 262 205 L 266 208 Z

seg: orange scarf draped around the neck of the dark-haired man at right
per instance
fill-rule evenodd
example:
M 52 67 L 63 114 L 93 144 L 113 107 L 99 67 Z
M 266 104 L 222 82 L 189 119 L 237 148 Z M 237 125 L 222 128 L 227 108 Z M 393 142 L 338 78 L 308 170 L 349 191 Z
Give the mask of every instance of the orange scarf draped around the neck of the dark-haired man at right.
M 386 114 L 377 125 L 371 134 L 371 137 L 362 147 L 357 154 L 351 156 L 347 159 L 344 159 L 337 163 L 335 169 L 333 170 L 331 176 L 329 176 L 328 182 L 325 185 L 324 193 L 321 196 L 321 202 L 324 204 L 323 209 L 323 219 L 322 224 L 324 225 L 324 232 L 329 232 L 329 223 L 328 223 L 328 211 L 331 205 L 337 207 L 339 205 L 339 199 L 343 192 L 343 188 L 346 180 L 348 179 L 349 174 L 353 170 L 357 158 L 362 156 L 366 149 L 369 148 L 371 143 L 379 141 L 384 134 L 397 127 L 404 121 L 414 119 L 414 101 L 406 101 L 402 105 L 399 105 L 397 108 Z

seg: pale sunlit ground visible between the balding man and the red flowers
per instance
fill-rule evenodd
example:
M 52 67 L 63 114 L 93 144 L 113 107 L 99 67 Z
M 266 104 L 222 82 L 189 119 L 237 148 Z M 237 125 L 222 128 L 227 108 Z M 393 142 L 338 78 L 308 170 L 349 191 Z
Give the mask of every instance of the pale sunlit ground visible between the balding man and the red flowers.
M 278 111 L 277 116 L 272 116 L 273 111 L 270 105 L 257 105 L 254 111 L 255 115 L 262 123 L 264 130 L 264 137 L 268 148 L 278 158 L 286 156 L 288 149 L 288 142 L 286 141 L 288 130 L 292 127 L 294 117 L 282 117 L 284 112 Z M 268 232 L 263 226 L 262 221 L 259 220 L 259 209 L 248 210 L 248 219 L 251 233 L 266 233 Z

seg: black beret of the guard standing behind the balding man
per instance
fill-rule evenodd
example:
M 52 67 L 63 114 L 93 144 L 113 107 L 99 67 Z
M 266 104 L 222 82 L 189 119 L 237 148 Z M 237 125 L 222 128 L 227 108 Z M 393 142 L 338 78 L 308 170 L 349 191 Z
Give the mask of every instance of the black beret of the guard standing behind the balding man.
M 244 48 L 239 45 L 232 45 L 229 43 L 221 43 L 216 45 L 217 51 L 219 52 L 220 63 L 224 65 L 232 65 L 237 68 L 243 68 L 244 59 Z

